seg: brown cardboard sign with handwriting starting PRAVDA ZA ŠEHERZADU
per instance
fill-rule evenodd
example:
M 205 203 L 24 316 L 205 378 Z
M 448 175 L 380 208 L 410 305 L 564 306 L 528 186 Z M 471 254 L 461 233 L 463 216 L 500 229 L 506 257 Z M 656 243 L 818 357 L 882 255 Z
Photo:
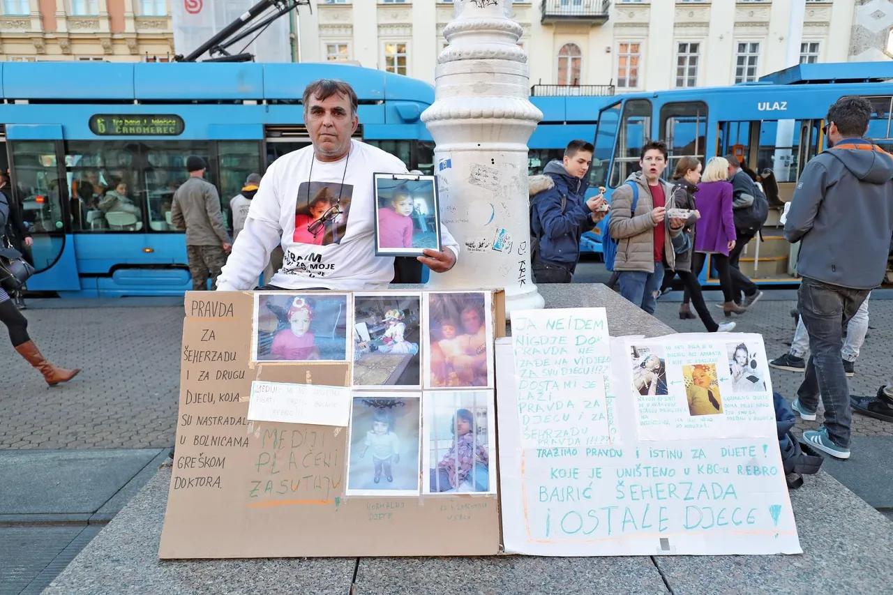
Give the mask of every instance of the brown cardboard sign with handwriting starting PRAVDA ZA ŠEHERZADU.
M 353 341 L 347 338 L 353 333 L 353 296 L 344 296 L 293 292 L 283 295 L 281 304 L 266 298 L 264 304 L 273 308 L 263 311 L 256 309 L 260 300 L 252 292 L 187 294 L 176 450 L 159 557 L 497 553 L 495 494 L 424 496 L 421 486 L 415 488 L 410 481 L 412 496 L 388 490 L 347 496 L 350 433 L 365 435 L 371 428 L 247 419 L 255 381 L 350 386 Z M 296 304 L 296 297 L 305 301 Z M 488 298 L 500 304 L 490 294 Z M 314 310 L 314 305 L 325 307 Z M 308 306 L 311 316 L 306 315 Z M 320 314 L 323 311 L 329 314 Z M 496 320 L 505 326 L 504 318 Z M 274 349 L 273 340 L 286 330 L 292 337 L 283 335 Z M 404 394 L 396 387 L 380 390 L 385 388 L 391 398 Z M 404 400 L 412 400 L 411 392 L 405 395 Z M 414 400 L 421 400 L 418 390 Z M 407 408 L 406 420 L 413 415 L 418 419 L 415 407 Z M 420 440 L 418 425 L 404 421 L 394 426 L 404 432 L 401 442 L 409 444 L 413 436 Z M 375 452 L 386 457 L 387 440 L 373 441 L 370 448 L 377 450 L 361 460 L 374 475 L 371 457 Z M 398 451 L 399 460 L 390 459 L 394 483 L 398 477 L 402 482 L 400 490 L 407 486 L 401 465 L 421 465 L 413 464 L 421 459 L 419 447 L 406 444 Z M 398 468 L 403 474 L 396 473 Z M 421 469 L 415 469 L 421 478 Z M 382 465 L 383 482 L 385 473 Z

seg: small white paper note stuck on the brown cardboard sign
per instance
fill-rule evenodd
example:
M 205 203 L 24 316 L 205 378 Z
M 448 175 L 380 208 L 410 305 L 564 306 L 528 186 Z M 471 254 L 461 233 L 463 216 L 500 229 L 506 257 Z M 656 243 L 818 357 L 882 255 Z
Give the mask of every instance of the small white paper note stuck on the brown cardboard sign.
M 346 427 L 350 389 L 315 384 L 254 381 L 247 419 Z

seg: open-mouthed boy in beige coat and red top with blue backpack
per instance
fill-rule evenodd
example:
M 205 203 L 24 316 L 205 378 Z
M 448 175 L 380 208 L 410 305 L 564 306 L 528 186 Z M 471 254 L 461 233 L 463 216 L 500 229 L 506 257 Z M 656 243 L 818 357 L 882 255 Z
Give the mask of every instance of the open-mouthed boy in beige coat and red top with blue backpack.
M 617 272 L 620 293 L 648 314 L 654 314 L 663 281 L 663 268 L 675 268 L 673 239 L 680 237 L 685 219 L 669 219 L 674 208 L 672 185 L 661 179 L 667 166 L 667 146 L 653 140 L 642 147 L 642 168 L 614 190 L 607 230 L 602 242 L 605 265 Z

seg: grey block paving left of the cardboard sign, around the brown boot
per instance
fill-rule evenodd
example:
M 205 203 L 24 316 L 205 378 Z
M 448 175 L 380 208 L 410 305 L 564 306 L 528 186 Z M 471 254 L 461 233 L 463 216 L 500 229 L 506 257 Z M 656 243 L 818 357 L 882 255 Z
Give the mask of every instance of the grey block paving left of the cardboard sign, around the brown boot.
M 174 442 L 183 306 L 29 309 L 29 334 L 55 365 L 47 387 L 2 337 L 0 448 L 163 448 Z

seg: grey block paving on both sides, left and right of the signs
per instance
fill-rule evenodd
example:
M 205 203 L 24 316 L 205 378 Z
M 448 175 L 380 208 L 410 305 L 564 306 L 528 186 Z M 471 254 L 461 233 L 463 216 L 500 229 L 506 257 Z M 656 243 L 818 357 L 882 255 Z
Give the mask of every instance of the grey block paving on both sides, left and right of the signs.
M 671 298 L 672 294 L 667 298 Z M 722 312 L 716 310 L 716 318 Z M 46 387 L 40 375 L 4 345 L 0 366 L 0 448 L 164 448 L 174 442 L 182 306 L 79 307 L 26 310 L 29 331 L 58 365 L 79 366 L 69 385 Z M 764 335 L 767 355 L 788 350 L 794 334 L 789 300 L 767 292 L 755 311 L 736 316 L 736 331 Z M 702 331 L 680 321 L 678 302 L 658 302 L 657 317 L 676 331 Z M 872 299 L 871 330 L 850 380 L 854 393 L 874 394 L 893 371 L 893 300 Z M 792 398 L 803 374 L 772 370 L 772 387 Z M 819 421 L 822 417 L 819 416 Z M 814 428 L 818 422 L 797 422 Z M 856 436 L 893 436 L 893 423 L 853 416 Z

